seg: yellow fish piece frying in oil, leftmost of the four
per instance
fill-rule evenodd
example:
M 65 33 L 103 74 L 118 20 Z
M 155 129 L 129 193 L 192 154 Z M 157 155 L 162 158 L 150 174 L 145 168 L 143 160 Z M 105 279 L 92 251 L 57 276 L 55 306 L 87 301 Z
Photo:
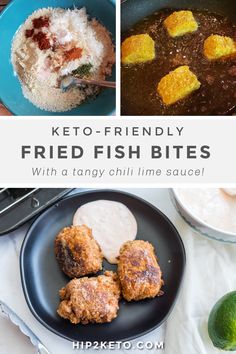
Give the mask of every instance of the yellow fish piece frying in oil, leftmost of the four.
M 155 42 L 148 34 L 128 37 L 121 46 L 123 64 L 144 63 L 155 58 Z

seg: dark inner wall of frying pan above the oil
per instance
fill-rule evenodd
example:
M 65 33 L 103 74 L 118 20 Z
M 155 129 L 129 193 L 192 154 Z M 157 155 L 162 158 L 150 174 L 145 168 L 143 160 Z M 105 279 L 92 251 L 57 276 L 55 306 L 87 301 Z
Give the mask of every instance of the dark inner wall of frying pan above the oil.
M 236 22 L 235 0 L 123 0 L 121 31 L 127 31 L 144 17 L 164 8 L 208 10 Z

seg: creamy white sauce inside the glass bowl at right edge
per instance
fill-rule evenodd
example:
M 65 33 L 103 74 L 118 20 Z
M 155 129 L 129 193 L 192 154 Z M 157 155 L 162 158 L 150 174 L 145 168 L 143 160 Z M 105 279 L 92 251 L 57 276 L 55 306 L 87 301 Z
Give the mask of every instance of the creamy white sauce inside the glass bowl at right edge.
M 176 189 L 184 207 L 209 226 L 235 233 L 236 194 L 219 188 Z

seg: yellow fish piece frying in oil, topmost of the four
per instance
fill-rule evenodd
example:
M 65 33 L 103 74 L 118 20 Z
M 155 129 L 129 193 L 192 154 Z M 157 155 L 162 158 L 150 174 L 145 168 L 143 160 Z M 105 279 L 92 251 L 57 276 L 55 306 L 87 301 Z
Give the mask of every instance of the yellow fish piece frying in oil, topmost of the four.
M 183 36 L 198 29 L 192 11 L 175 11 L 165 19 L 164 25 L 171 37 Z

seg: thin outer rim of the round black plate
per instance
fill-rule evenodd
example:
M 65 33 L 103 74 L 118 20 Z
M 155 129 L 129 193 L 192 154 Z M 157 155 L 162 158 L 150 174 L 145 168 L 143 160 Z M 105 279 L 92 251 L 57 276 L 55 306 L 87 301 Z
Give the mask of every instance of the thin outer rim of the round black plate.
M 127 193 L 127 192 L 123 192 L 123 191 L 119 191 L 119 190 L 113 190 L 113 189 L 93 189 L 93 190 L 89 190 L 89 191 L 85 191 L 85 192 L 81 192 L 81 193 L 75 193 L 71 196 L 68 196 L 68 197 L 65 197 L 65 198 L 62 198 L 59 202 L 55 203 L 54 205 L 50 206 L 48 209 L 46 209 L 40 216 L 38 216 L 37 219 L 34 220 L 34 222 L 32 223 L 32 225 L 30 226 L 30 228 L 28 229 L 27 233 L 26 233 L 26 236 L 23 240 L 23 243 L 22 243 L 22 246 L 21 246 L 21 251 L 20 251 L 20 259 L 19 259 L 19 262 L 20 262 L 20 277 L 21 277 L 21 285 L 22 285 L 22 289 L 23 289 L 23 293 L 24 293 L 24 296 L 25 296 L 25 300 L 26 300 L 26 303 L 31 311 L 31 313 L 33 314 L 33 316 L 45 327 L 47 328 L 49 331 L 53 332 L 54 334 L 58 335 L 59 337 L 61 338 L 64 338 L 70 342 L 74 342 L 75 340 L 71 339 L 70 337 L 64 335 L 63 333 L 55 330 L 53 327 L 51 327 L 50 325 L 48 325 L 39 315 L 38 313 L 35 311 L 31 301 L 30 301 L 30 297 L 29 297 L 29 294 L 28 294 L 28 291 L 27 291 L 27 287 L 26 287 L 26 280 L 25 280 L 25 273 L 24 273 L 24 252 L 25 252 L 25 247 L 26 247 L 26 244 L 27 244 L 27 241 L 30 237 L 30 234 L 31 234 L 31 230 L 33 229 L 33 227 L 35 226 L 36 223 L 38 223 L 46 213 L 50 212 L 51 209 L 53 209 L 55 207 L 55 205 L 59 205 L 60 203 L 64 202 L 64 200 L 68 200 L 68 199 L 72 199 L 73 197 L 77 196 L 81 196 L 81 195 L 85 195 L 85 194 L 94 194 L 94 193 L 115 193 L 115 194 L 122 194 L 124 196 L 127 196 L 127 197 L 130 197 L 131 199 L 136 199 L 138 200 L 139 202 L 142 202 L 143 204 L 145 204 L 147 207 L 153 209 L 155 212 L 159 213 L 161 215 L 161 217 L 165 220 L 165 222 L 167 222 L 172 228 L 173 230 L 175 231 L 175 235 L 177 237 L 177 240 L 179 242 L 179 246 L 180 246 L 180 250 L 182 252 L 182 261 L 183 261 L 183 265 L 182 265 L 182 269 L 181 269 L 181 276 L 180 276 L 180 279 L 179 279 L 179 286 L 178 286 L 178 289 L 177 289 L 177 292 L 176 292 L 176 296 L 175 296 L 175 299 L 174 301 L 172 302 L 171 306 L 170 306 L 170 309 L 169 311 L 166 313 L 165 317 L 163 318 L 162 321 L 160 321 L 157 325 L 149 328 L 148 330 L 146 331 L 143 331 L 137 335 L 133 335 L 133 336 L 130 336 L 130 337 L 126 337 L 126 338 L 122 338 L 122 339 L 116 339 L 114 338 L 112 341 L 119 341 L 119 342 L 126 342 L 126 341 L 131 341 L 135 338 L 138 338 L 140 336 L 143 336 L 147 333 L 150 333 L 152 332 L 154 329 L 160 327 L 164 322 L 166 322 L 167 318 L 169 317 L 169 315 L 171 314 L 173 308 L 174 308 L 174 305 L 178 299 L 178 296 L 179 296 L 179 293 L 180 293 L 180 290 L 181 290 L 181 287 L 182 287 L 182 284 L 183 284 L 183 278 L 184 278 L 184 274 L 185 274 L 185 268 L 186 268 L 186 251 L 185 251 L 185 247 L 184 247 L 184 243 L 181 239 L 181 236 L 178 232 L 178 230 L 176 229 L 176 227 L 174 226 L 174 224 L 169 220 L 169 218 L 163 214 L 157 207 L 155 207 L 154 205 L 152 205 L 151 203 L 147 202 L 146 200 L 144 200 L 143 198 L 140 198 L 134 194 L 131 194 L 131 193 Z M 79 340 L 81 343 L 85 343 L 86 341 L 81 341 Z M 93 342 L 103 342 L 103 340 L 94 340 Z

